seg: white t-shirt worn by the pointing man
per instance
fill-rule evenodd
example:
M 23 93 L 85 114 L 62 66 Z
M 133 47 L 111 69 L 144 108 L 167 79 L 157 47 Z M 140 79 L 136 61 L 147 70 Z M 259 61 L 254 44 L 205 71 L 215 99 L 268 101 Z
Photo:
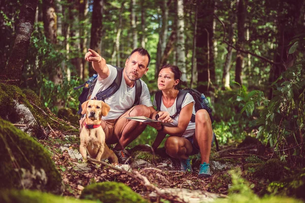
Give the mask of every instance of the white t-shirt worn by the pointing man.
M 90 99 L 93 99 L 96 94 L 100 91 L 107 89 L 112 82 L 115 80 L 117 71 L 115 67 L 107 64 L 109 68 L 109 76 L 101 81 L 97 80 L 96 85 L 94 86 L 93 92 Z M 147 85 L 144 81 L 140 80 L 142 84 L 142 93 L 140 96 L 140 105 L 145 105 L 147 107 L 152 107 L 150 100 L 150 94 Z M 128 111 L 134 104 L 136 95 L 135 85 L 130 88 L 127 87 L 124 76 L 122 76 L 122 82 L 119 89 L 110 97 L 105 99 L 105 103 L 110 106 L 110 111 L 107 116 L 103 117 L 103 120 L 117 119 L 124 112 Z

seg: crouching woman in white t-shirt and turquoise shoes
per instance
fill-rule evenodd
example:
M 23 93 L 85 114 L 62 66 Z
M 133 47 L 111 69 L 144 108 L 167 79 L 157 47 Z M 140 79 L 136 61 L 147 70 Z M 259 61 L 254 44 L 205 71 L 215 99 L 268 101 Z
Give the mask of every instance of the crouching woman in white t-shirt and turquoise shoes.
M 194 99 L 191 94 L 187 94 L 181 112 L 176 113 L 176 99 L 178 95 L 181 72 L 178 67 L 166 64 L 161 67 L 158 77 L 158 88 L 162 91 L 162 101 L 160 112 L 155 112 L 153 118 L 159 115 L 160 123 L 149 123 L 158 130 L 158 136 L 153 144 L 156 150 L 165 138 L 170 137 L 165 142 L 166 153 L 180 160 L 181 170 L 192 171 L 190 155 L 200 152 L 201 164 L 199 167 L 199 178 L 211 176 L 209 155 L 212 142 L 212 125 L 206 110 L 201 109 L 195 113 Z M 156 106 L 156 98 L 153 102 Z M 192 114 L 196 114 L 195 122 L 191 122 Z M 174 116 L 173 116 L 174 115 Z

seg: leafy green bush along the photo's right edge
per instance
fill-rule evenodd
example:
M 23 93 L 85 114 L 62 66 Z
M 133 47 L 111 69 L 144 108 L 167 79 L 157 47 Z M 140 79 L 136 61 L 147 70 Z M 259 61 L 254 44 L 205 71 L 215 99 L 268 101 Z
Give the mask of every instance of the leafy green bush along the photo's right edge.
M 256 124 L 259 126 L 257 138 L 265 144 L 269 143 L 282 160 L 286 160 L 290 144 L 299 145 L 303 140 L 305 106 L 304 89 L 305 76 L 303 66 L 305 61 L 296 62 L 286 72 L 271 84 L 273 98 L 268 100 L 262 91 L 254 90 L 249 93 L 245 87 L 240 88 L 240 104 L 247 115 L 252 115 L 254 107 L 259 110 Z M 294 149 L 292 154 L 299 155 L 302 144 Z

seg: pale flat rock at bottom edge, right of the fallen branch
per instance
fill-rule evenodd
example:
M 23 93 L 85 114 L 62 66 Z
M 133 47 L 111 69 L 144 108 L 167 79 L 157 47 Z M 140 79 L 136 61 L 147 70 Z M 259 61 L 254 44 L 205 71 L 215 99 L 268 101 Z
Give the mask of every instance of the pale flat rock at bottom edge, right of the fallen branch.
M 212 202 L 216 198 L 224 197 L 225 195 L 220 195 L 216 193 L 207 192 L 204 190 L 190 190 L 186 188 L 163 188 L 162 192 L 167 192 L 172 196 L 177 196 L 183 202 L 190 203 L 201 203 L 201 202 Z M 149 194 L 150 197 L 155 197 L 157 194 L 152 192 Z

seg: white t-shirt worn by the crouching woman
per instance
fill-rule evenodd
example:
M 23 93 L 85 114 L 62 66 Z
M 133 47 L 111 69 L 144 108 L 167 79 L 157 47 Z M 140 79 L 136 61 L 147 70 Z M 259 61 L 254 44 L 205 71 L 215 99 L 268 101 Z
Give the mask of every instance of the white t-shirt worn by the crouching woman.
M 175 102 L 171 107 L 166 108 L 163 104 L 163 99 L 161 97 L 160 111 L 167 111 L 170 116 L 174 115 L 177 112 L 176 102 L 177 102 L 177 98 L 175 99 Z M 188 104 L 192 103 L 192 102 L 195 104 L 195 100 L 194 100 L 193 96 L 190 93 L 187 93 L 184 101 L 182 102 L 181 109 L 184 108 L 185 106 L 187 106 Z M 157 106 L 156 97 L 154 98 L 153 105 L 155 107 Z M 195 106 L 193 106 L 193 114 L 196 114 L 195 113 Z M 168 126 L 168 127 L 177 127 L 179 116 L 183 116 L 183 115 L 178 114 L 173 119 L 172 123 L 164 123 L 164 125 Z M 182 138 L 188 138 L 188 137 L 194 136 L 194 134 L 195 134 L 195 122 L 190 121 L 186 131 L 182 134 Z

